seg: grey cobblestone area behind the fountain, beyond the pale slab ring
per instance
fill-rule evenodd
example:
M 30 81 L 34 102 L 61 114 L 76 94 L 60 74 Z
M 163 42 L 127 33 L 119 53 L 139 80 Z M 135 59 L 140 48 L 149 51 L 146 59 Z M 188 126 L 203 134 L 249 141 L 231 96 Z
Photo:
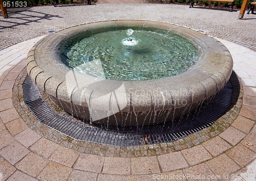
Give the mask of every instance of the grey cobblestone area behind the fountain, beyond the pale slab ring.
M 23 10 L 23 11 L 22 11 Z M 32 7 L 8 9 L 9 18 L 0 17 L 0 50 L 51 30 L 111 19 L 150 19 L 185 25 L 233 43 L 256 50 L 256 15 L 239 11 L 188 8 L 163 4 L 101 4 L 69 7 Z

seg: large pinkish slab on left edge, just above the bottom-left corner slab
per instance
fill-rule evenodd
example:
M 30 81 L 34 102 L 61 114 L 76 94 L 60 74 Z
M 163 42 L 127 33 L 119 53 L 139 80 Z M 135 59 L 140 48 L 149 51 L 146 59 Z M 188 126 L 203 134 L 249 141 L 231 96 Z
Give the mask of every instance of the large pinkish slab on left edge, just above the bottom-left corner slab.
M 1 156 L 3 156 L 12 165 L 17 163 L 28 153 L 29 150 L 18 142 L 12 142 L 8 146 L 0 150 Z

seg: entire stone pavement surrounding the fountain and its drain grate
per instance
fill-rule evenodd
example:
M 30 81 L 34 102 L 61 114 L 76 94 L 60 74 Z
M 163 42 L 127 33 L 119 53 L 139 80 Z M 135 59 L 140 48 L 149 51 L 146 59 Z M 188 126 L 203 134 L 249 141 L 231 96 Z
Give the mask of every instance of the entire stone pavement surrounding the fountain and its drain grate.
M 255 15 L 238 20 L 239 12 L 180 5 L 106 5 L 34 7 L 0 18 L 1 27 L 9 24 L 0 29 L 0 180 L 255 180 Z M 21 88 L 25 58 L 39 36 L 83 22 L 127 18 L 174 22 L 221 38 L 241 81 L 232 108 L 214 125 L 176 142 L 127 148 L 79 142 L 40 124 L 24 105 Z M 237 32 L 231 34 L 230 27 Z M 242 41 L 233 41 L 237 37 Z M 246 37 L 250 43 L 239 45 Z

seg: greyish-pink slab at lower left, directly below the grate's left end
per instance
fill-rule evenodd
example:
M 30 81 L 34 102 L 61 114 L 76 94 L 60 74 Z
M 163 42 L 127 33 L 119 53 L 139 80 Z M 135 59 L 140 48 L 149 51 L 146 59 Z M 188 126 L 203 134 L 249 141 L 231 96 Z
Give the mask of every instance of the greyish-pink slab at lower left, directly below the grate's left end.
M 41 136 L 32 131 L 30 128 L 15 136 L 15 139 L 27 148 L 34 144 L 40 138 Z

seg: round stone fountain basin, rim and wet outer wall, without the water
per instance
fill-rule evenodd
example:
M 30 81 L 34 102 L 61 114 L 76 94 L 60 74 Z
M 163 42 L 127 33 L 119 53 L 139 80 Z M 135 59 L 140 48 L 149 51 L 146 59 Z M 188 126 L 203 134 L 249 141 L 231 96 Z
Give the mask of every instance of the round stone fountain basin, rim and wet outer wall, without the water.
M 61 60 L 62 44 L 84 32 L 157 28 L 182 35 L 198 48 L 198 62 L 172 77 L 150 81 L 100 79 L 71 70 Z M 37 42 L 27 56 L 31 80 L 60 108 L 102 125 L 144 126 L 170 122 L 220 91 L 232 72 L 232 58 L 218 40 L 180 25 L 150 20 L 109 20 L 77 25 Z

